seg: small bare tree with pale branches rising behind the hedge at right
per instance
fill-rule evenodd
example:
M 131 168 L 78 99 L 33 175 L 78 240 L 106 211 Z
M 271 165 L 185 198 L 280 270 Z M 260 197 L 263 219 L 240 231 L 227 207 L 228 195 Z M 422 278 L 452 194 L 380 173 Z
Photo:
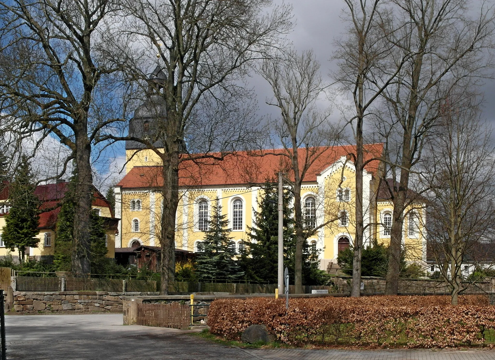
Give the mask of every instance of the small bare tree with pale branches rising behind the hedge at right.
M 469 284 L 463 283 L 462 266 L 487 260 L 493 265 L 495 147 L 474 98 L 450 98 L 432 131 L 421 175 L 431 198 L 428 252 L 451 287 L 452 305 L 457 305 Z

